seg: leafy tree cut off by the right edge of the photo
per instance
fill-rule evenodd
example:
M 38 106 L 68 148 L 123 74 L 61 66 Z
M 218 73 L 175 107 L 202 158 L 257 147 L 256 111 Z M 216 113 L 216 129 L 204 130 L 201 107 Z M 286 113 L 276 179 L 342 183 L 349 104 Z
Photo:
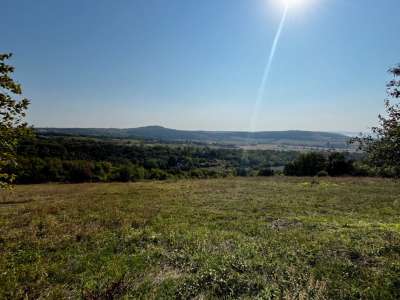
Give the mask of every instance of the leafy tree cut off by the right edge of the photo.
M 387 84 L 386 115 L 379 115 L 374 136 L 355 138 L 367 160 L 380 175 L 400 176 L 400 65 L 389 70 L 393 79 Z

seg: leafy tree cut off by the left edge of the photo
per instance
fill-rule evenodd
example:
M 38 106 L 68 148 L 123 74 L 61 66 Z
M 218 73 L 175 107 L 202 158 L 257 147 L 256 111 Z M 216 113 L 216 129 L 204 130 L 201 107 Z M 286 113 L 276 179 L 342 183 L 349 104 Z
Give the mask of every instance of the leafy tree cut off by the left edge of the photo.
M 21 98 L 21 85 L 11 78 L 14 67 L 5 63 L 10 57 L 0 54 L 0 188 L 14 181 L 15 175 L 5 168 L 16 163 L 16 145 L 28 133 L 24 117 L 29 101 Z

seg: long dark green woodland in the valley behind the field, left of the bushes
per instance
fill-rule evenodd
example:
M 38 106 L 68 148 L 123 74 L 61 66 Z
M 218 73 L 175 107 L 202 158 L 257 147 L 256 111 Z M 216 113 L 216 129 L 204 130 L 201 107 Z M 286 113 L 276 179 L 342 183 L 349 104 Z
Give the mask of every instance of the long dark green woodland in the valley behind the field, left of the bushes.
M 109 182 L 271 176 L 297 152 L 145 145 L 74 137 L 28 137 L 6 171 L 17 183 Z

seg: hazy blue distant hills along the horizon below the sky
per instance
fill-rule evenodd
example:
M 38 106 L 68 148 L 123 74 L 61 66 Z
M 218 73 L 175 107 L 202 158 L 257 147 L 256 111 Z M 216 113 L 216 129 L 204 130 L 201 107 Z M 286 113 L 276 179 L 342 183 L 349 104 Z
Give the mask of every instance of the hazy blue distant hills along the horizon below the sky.
M 73 135 L 89 137 L 151 139 L 160 141 L 193 141 L 226 144 L 272 144 L 308 147 L 346 148 L 348 136 L 339 133 L 317 131 L 191 131 L 161 126 L 138 128 L 38 128 L 42 135 Z

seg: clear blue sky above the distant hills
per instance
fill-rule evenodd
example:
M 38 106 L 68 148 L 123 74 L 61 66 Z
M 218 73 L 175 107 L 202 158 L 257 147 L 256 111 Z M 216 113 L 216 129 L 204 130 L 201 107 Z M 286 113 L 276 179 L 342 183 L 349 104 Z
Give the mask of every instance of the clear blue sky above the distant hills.
M 252 129 L 364 131 L 400 62 L 400 2 L 303 1 L 289 9 Z M 4 1 L 0 52 L 14 53 L 37 127 L 248 130 L 277 2 Z

